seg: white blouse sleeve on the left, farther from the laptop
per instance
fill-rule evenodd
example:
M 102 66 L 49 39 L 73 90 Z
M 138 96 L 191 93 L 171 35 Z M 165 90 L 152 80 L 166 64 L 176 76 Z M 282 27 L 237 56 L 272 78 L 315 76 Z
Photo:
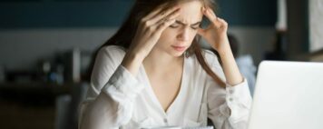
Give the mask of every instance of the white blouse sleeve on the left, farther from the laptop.
M 88 94 L 81 104 L 81 129 L 119 128 L 130 121 L 133 99 L 143 85 L 120 65 L 123 56 L 116 46 L 99 51 Z

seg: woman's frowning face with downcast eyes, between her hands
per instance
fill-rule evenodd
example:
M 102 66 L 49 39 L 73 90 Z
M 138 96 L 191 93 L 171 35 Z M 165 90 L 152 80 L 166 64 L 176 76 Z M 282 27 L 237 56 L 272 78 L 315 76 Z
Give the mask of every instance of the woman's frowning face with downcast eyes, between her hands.
M 180 6 L 176 22 L 163 31 L 155 45 L 156 49 L 172 56 L 181 56 L 190 47 L 203 16 L 201 1 L 186 2 Z

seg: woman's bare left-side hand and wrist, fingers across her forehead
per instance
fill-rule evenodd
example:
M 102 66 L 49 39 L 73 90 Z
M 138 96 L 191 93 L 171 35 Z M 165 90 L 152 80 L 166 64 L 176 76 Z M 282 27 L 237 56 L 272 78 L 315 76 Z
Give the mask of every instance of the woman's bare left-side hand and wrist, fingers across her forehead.
M 130 45 L 122 60 L 122 65 L 129 72 L 133 75 L 137 74 L 143 59 L 152 51 L 152 47 L 156 45 L 162 32 L 175 22 L 175 18 L 180 14 L 179 12 L 180 8 L 178 6 L 167 9 L 159 6 L 141 19 L 132 40 L 132 45 Z

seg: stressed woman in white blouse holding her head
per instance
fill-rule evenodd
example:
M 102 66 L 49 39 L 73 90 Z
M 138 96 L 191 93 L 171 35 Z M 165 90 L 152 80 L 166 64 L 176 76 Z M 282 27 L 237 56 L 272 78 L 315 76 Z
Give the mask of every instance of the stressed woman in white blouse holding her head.
M 245 128 L 251 97 L 211 0 L 137 0 L 93 66 L 81 128 Z M 200 28 L 202 16 L 211 22 Z M 219 52 L 201 50 L 201 35 Z

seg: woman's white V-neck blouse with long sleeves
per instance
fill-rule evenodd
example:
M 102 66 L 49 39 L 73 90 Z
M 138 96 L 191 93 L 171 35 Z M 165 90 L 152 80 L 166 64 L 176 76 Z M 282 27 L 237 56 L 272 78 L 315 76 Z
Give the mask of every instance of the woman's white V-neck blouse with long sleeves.
M 207 50 L 203 53 L 213 72 L 225 80 L 217 56 Z M 180 92 L 165 112 L 143 65 L 133 76 L 121 65 L 124 55 L 124 49 L 116 45 L 99 51 L 81 105 L 81 128 L 195 127 L 207 125 L 208 117 L 217 129 L 247 128 L 251 96 L 246 79 L 222 88 L 203 70 L 195 55 L 185 57 Z

